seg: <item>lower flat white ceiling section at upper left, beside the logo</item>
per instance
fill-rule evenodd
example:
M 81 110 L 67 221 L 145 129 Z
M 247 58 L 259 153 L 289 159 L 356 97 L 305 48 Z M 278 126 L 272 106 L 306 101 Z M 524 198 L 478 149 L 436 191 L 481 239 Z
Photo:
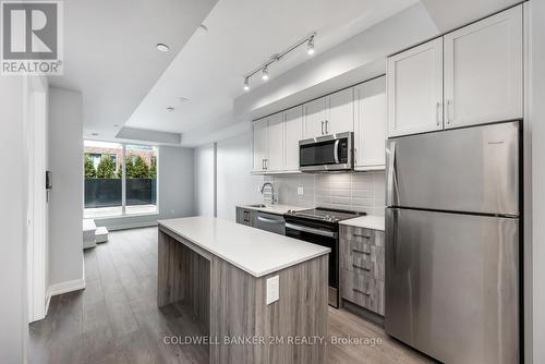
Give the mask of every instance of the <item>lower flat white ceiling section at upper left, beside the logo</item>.
M 113 138 L 216 1 L 64 1 L 64 75 L 49 83 L 82 93 L 84 136 Z

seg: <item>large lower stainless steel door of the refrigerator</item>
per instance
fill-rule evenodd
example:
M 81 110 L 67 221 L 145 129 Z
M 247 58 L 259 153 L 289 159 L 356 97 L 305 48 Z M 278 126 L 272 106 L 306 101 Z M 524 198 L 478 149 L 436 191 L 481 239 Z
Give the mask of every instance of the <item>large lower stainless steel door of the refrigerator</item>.
M 519 220 L 388 208 L 385 310 L 444 363 L 518 363 Z

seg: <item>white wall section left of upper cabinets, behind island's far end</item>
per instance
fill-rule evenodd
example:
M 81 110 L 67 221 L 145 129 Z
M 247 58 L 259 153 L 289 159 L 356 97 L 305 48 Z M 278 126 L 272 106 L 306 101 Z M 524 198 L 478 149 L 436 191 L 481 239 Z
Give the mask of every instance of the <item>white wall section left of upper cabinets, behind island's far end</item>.
M 263 175 L 251 175 L 252 134 L 217 143 L 218 217 L 235 220 L 235 206 L 263 201 Z

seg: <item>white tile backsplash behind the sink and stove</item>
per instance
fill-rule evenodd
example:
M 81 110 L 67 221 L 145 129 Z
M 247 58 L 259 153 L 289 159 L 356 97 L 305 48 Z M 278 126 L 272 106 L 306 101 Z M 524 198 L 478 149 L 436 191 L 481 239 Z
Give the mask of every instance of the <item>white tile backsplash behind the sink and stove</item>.
M 279 204 L 331 207 L 384 216 L 385 172 L 265 175 Z M 298 195 L 298 187 L 303 194 Z

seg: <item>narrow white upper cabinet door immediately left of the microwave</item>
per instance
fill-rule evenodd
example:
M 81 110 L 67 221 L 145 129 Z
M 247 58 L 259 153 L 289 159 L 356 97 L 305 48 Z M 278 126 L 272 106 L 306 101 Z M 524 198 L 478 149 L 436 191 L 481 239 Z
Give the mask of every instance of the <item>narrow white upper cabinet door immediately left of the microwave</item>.
M 284 171 L 299 171 L 299 141 L 303 139 L 303 107 L 283 112 Z

